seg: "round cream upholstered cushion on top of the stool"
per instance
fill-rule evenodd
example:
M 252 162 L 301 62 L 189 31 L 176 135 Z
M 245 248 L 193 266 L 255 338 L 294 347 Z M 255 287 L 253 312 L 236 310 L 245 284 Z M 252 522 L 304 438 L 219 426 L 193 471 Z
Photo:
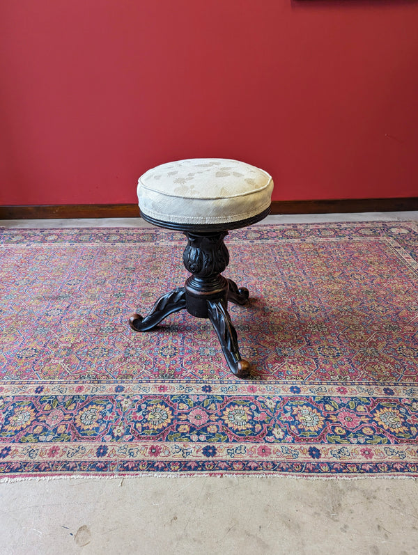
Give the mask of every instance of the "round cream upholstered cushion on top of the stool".
M 193 158 L 150 169 L 138 181 L 145 216 L 180 224 L 227 224 L 267 210 L 273 180 L 255 166 Z

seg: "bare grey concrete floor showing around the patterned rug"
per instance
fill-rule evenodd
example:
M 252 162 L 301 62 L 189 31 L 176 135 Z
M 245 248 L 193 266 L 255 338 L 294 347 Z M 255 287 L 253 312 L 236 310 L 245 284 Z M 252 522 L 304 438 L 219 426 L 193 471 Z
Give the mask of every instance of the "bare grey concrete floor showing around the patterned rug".
M 418 212 L 270 216 L 263 223 L 418 221 Z M 0 226 L 146 226 L 140 219 Z M 418 553 L 412 479 L 114 478 L 0 483 L 0 554 Z

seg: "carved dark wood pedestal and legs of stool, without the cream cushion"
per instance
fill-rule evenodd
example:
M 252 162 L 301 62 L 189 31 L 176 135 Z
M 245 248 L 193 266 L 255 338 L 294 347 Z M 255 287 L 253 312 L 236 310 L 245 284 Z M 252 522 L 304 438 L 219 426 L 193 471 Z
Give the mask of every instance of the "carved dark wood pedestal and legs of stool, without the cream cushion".
M 270 207 L 252 218 L 213 225 L 173 224 L 153 219 L 141 212 L 141 217 L 150 224 L 183 231 L 187 237 L 183 263 L 192 275 L 187 278 L 184 287 L 162 295 L 148 316 L 143 318 L 137 313 L 132 315 L 130 327 L 135 331 L 149 331 L 169 314 L 183 308 L 196 318 L 209 318 L 233 374 L 241 378 L 249 377 L 250 365 L 240 355 L 237 332 L 228 312 L 228 301 L 245 304 L 249 292 L 247 288 L 238 288 L 234 281 L 221 275 L 229 264 L 224 237 L 228 235 L 228 230 L 255 224 L 269 212 Z

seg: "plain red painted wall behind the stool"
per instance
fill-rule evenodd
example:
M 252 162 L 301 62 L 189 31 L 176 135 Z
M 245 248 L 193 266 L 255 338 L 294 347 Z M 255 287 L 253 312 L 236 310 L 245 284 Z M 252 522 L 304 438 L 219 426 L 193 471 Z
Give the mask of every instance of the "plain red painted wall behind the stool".
M 275 200 L 417 196 L 417 29 L 415 0 L 3 1 L 0 204 L 212 156 Z

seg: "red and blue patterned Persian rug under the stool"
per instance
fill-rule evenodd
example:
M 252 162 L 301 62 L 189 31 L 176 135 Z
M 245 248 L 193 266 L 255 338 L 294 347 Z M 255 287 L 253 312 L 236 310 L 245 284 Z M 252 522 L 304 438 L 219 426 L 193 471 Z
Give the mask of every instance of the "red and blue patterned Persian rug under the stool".
M 168 230 L 1 229 L 0 476 L 418 476 L 418 226 L 230 233 L 251 380 L 208 320 L 127 324 L 182 286 Z

